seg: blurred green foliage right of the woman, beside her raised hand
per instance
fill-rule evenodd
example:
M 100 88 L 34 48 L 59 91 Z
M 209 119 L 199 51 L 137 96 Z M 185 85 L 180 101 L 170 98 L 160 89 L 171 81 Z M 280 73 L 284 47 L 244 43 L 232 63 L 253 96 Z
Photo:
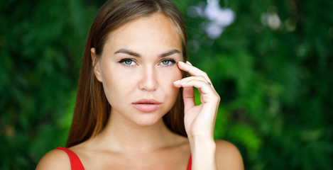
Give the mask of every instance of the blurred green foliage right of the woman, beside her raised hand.
M 246 169 L 332 169 L 333 2 L 220 1 L 236 17 L 215 39 L 207 3 L 189 5 L 190 60 L 222 98 L 215 137 Z

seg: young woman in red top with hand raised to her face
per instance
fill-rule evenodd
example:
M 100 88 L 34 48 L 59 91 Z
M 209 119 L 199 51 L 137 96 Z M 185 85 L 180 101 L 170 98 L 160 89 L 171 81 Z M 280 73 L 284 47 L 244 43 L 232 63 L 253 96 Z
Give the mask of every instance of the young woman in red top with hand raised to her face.
M 37 169 L 244 169 L 238 149 L 213 138 L 219 95 L 186 47 L 169 0 L 107 1 L 84 48 L 67 148 Z

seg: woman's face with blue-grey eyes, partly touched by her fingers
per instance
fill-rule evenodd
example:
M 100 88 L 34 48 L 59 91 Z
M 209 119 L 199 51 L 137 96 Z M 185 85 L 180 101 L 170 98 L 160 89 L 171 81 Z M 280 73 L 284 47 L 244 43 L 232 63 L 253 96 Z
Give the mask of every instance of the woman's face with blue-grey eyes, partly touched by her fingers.
M 94 48 L 92 48 L 94 55 Z M 182 78 L 182 44 L 175 26 L 160 13 L 111 32 L 94 72 L 104 86 L 111 118 L 153 125 L 173 107 Z

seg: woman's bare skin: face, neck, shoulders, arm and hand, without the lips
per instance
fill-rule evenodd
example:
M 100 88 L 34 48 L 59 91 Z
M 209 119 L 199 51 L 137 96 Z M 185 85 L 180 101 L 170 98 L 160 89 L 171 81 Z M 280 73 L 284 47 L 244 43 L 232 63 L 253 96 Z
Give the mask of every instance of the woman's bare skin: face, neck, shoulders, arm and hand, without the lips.
M 182 62 L 181 49 L 175 26 L 160 13 L 110 33 L 102 56 L 91 49 L 94 73 L 112 109 L 107 127 L 97 137 L 70 148 L 84 169 L 186 169 L 190 154 L 192 169 L 244 169 L 234 145 L 214 141 L 219 96 L 207 84 L 207 74 Z M 191 77 L 182 79 L 182 71 Z M 180 87 L 188 138 L 168 130 L 162 120 Z M 200 106 L 195 106 L 193 87 L 200 91 Z M 160 107 L 139 111 L 133 102 L 141 98 L 154 98 Z M 55 149 L 45 154 L 37 169 L 70 169 L 70 161 Z

